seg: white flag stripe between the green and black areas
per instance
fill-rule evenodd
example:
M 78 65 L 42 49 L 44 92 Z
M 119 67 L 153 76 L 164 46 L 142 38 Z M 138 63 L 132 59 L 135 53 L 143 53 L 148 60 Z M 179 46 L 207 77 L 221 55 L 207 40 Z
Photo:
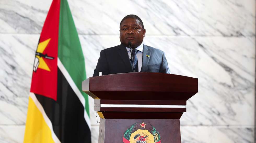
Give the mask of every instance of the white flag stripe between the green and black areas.
M 77 85 L 75 85 L 73 79 L 71 78 L 71 76 L 69 75 L 68 71 L 66 70 L 64 65 L 61 63 L 59 58 L 58 58 L 58 67 L 59 67 L 60 71 L 62 72 L 62 74 L 64 75 L 64 77 L 67 79 L 69 85 L 71 86 L 71 88 L 73 89 L 73 91 L 75 92 L 75 94 L 77 95 L 77 97 L 79 98 L 80 102 L 82 103 L 82 105 L 85 108 L 84 96 L 82 95 L 82 93 L 77 88 Z M 81 86 L 82 86 L 82 82 L 81 82 Z M 85 110 L 84 110 L 84 119 L 85 119 L 86 123 L 88 124 L 88 126 L 89 126 L 89 128 L 91 130 L 91 121 L 90 121 L 90 118 L 89 118 L 89 116 L 88 116 L 88 114 L 87 114 L 87 112 Z

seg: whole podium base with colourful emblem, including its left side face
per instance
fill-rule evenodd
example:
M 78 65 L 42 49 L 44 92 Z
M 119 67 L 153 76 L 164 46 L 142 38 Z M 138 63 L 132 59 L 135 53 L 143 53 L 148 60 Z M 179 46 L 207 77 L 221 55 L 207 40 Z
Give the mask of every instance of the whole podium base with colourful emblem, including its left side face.
M 98 143 L 121 142 L 181 143 L 179 119 L 100 118 Z

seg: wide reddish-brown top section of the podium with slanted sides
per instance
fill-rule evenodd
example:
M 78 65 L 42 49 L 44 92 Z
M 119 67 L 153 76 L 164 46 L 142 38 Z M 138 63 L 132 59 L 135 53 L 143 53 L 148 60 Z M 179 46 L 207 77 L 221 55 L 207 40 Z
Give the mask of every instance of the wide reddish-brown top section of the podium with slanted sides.
M 188 100 L 197 88 L 197 78 L 152 72 L 109 74 L 82 82 L 82 90 L 92 98 L 110 100 Z

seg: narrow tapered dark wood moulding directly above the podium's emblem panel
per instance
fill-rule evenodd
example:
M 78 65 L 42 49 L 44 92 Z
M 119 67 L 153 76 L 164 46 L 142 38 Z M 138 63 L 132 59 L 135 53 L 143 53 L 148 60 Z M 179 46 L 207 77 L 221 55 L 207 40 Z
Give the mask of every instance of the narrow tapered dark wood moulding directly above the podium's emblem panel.
M 182 112 L 102 112 L 106 119 L 180 119 Z

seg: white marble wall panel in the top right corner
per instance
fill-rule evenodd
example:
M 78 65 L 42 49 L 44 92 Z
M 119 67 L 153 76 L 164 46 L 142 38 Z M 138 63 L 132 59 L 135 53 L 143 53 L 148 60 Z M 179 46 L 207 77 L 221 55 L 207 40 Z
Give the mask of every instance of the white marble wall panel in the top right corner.
M 200 35 L 255 36 L 255 0 L 199 0 Z

